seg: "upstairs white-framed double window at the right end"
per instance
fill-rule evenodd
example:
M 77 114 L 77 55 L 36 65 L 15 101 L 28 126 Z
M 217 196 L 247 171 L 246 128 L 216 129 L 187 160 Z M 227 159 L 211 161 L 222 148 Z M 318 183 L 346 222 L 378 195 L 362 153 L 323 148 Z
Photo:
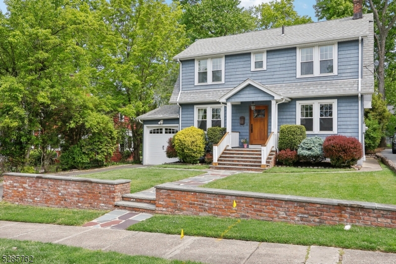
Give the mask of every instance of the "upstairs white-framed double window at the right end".
M 338 44 L 297 48 L 297 78 L 337 75 Z

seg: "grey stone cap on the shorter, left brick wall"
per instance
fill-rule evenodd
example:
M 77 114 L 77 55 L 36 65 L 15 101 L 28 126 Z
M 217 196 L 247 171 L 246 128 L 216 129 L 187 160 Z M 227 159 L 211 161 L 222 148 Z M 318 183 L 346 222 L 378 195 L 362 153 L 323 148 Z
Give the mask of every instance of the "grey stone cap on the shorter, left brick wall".
M 3 174 L 4 176 L 17 176 L 17 177 L 29 177 L 29 178 L 41 178 L 41 179 L 51 179 L 51 180 L 63 180 L 63 181 L 79 181 L 79 182 L 92 182 L 101 184 L 122 184 L 131 182 L 131 180 L 119 179 L 119 180 L 101 180 L 101 179 L 90 179 L 90 178 L 79 178 L 72 176 L 57 176 L 48 174 L 33 174 L 33 173 L 18 173 L 18 172 L 7 172 Z

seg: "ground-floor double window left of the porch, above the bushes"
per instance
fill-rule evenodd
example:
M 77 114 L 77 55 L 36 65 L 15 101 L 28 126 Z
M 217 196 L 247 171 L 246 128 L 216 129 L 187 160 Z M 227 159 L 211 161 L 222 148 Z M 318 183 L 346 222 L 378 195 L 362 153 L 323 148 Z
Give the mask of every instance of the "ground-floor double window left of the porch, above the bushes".
M 194 125 L 203 131 L 209 127 L 224 127 L 224 106 L 195 106 Z

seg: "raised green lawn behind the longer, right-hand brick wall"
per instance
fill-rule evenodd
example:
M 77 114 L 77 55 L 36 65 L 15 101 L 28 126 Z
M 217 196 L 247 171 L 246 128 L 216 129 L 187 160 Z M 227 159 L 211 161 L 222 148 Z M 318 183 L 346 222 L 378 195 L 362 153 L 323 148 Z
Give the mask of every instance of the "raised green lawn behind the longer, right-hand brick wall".
M 372 172 L 241 173 L 202 187 L 396 205 L 396 174 L 381 166 Z

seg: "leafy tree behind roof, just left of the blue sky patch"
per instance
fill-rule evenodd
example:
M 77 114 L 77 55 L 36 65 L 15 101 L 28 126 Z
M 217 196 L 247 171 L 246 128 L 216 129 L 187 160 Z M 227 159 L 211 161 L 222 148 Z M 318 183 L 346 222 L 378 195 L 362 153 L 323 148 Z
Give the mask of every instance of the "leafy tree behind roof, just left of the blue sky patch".
M 255 6 L 254 13 L 257 17 L 257 27 L 269 29 L 312 23 L 311 17 L 297 14 L 293 2 L 294 0 L 273 0 L 269 3 L 261 3 Z

